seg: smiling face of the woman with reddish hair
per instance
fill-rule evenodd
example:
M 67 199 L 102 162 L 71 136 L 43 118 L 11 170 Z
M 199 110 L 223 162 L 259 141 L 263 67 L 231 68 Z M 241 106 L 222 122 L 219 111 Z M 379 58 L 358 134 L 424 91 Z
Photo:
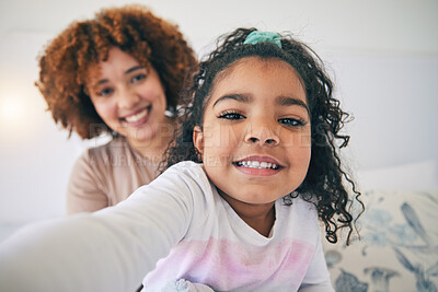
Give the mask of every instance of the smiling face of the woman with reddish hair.
M 119 48 L 110 49 L 106 61 L 91 68 L 88 87 L 103 121 L 131 143 L 147 142 L 169 121 L 166 100 L 157 71 L 142 67 Z

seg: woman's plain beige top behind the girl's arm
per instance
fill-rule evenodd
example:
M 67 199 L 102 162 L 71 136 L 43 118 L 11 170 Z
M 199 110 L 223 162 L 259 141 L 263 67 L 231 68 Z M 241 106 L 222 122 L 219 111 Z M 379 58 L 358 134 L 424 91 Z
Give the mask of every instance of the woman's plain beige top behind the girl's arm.
M 161 157 L 146 159 L 124 137 L 77 160 L 67 188 L 67 213 L 92 212 L 125 200 L 158 175 Z

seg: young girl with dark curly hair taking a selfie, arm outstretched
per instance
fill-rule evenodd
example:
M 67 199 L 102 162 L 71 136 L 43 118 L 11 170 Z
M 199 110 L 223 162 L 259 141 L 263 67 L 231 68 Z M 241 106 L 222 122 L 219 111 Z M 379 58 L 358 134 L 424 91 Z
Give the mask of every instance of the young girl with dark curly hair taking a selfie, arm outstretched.
M 321 245 L 353 231 L 345 113 L 318 58 L 239 28 L 200 63 L 170 166 L 119 205 L 0 248 L 4 291 L 333 291 Z

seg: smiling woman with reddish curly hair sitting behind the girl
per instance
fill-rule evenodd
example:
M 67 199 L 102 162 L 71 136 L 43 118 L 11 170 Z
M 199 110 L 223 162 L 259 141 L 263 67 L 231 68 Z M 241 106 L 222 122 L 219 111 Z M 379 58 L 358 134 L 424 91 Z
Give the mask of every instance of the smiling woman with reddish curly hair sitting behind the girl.
M 113 136 L 74 164 L 68 213 L 116 205 L 157 177 L 196 63 L 177 27 L 141 5 L 104 9 L 48 44 L 36 85 L 55 121 L 82 139 Z

